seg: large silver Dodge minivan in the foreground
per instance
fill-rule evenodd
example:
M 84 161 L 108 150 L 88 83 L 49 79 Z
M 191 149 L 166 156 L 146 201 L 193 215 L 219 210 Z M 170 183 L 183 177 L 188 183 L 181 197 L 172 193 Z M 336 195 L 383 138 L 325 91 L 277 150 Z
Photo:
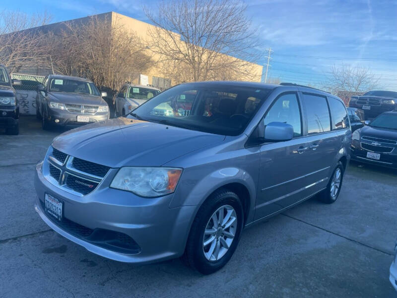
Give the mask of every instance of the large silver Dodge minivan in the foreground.
M 188 116 L 152 113 L 192 93 Z M 315 195 L 334 203 L 350 143 L 346 108 L 329 93 L 180 84 L 127 117 L 55 138 L 36 167 L 35 209 L 98 255 L 131 263 L 182 256 L 209 274 L 232 257 L 244 227 Z

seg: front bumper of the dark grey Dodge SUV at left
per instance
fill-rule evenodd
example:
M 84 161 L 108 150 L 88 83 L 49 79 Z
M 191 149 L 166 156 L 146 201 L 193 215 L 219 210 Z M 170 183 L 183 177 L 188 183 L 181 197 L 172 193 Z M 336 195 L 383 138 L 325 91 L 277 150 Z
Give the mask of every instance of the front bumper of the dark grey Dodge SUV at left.
M 89 117 L 89 122 L 78 122 L 77 116 L 87 116 Z M 49 109 L 47 120 L 52 125 L 75 127 L 75 126 L 81 126 L 99 121 L 104 121 L 107 119 L 109 119 L 109 112 L 96 113 L 95 115 L 85 115 L 85 114 L 74 114 L 68 111 Z

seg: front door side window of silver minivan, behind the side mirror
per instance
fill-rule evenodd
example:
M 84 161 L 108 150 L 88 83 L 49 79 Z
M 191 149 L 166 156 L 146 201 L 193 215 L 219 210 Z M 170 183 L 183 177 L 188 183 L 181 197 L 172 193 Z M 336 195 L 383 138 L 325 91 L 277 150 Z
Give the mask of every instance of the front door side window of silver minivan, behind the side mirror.
M 281 95 L 264 118 L 265 125 L 270 122 L 285 122 L 294 128 L 294 137 L 302 136 L 302 119 L 296 94 Z

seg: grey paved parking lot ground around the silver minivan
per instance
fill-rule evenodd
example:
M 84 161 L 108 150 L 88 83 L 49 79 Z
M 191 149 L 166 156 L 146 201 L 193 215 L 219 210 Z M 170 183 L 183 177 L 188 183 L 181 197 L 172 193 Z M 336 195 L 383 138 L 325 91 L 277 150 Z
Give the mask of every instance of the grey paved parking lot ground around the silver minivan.
M 61 130 L 35 116 L 0 132 L 0 297 L 396 297 L 397 172 L 351 163 L 335 204 L 315 199 L 246 229 L 219 272 L 131 265 L 52 231 L 33 209 L 35 164 Z

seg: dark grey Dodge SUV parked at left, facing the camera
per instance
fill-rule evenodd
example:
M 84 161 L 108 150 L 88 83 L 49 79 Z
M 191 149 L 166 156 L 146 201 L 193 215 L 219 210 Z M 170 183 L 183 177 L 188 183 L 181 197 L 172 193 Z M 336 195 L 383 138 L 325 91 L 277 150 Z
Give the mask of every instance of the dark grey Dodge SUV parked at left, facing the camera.
M 109 106 L 95 84 L 85 78 L 50 74 L 37 86 L 36 116 L 43 129 L 81 126 L 109 119 Z

